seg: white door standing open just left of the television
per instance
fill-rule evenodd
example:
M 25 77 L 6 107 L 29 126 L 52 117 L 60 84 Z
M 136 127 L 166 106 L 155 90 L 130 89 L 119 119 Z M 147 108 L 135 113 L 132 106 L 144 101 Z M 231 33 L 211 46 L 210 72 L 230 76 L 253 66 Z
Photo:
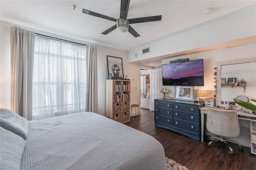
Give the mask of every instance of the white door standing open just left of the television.
M 162 93 L 160 93 L 162 85 L 162 69 L 152 69 L 152 84 L 150 87 L 150 89 L 152 89 L 152 111 L 154 111 L 154 99 L 159 99 L 163 97 Z

